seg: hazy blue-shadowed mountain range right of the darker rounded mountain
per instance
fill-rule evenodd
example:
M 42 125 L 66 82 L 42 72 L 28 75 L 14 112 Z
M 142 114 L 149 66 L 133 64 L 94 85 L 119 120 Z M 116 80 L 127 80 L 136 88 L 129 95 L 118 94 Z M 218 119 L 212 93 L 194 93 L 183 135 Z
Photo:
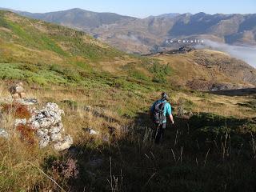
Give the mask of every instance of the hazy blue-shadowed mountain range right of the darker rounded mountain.
M 233 45 L 256 45 L 255 17 L 256 14 L 181 14 L 174 18 L 137 19 L 92 32 L 122 50 L 142 53 L 154 51 L 155 46 L 177 46 L 166 45 L 166 39 L 210 39 Z

